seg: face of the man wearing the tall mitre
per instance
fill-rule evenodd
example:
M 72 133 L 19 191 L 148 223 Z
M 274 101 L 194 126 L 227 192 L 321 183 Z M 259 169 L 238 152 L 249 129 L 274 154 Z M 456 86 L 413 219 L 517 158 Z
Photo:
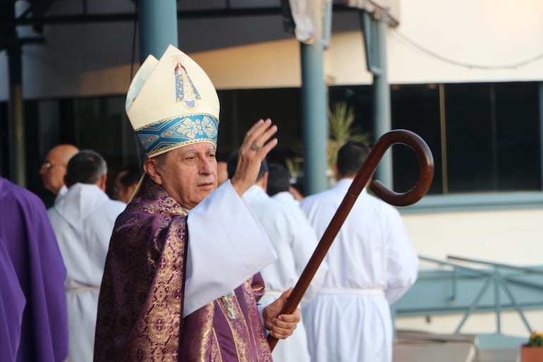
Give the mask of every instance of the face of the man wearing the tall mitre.
M 215 153 L 212 143 L 185 145 L 148 159 L 146 171 L 182 207 L 190 210 L 217 187 Z

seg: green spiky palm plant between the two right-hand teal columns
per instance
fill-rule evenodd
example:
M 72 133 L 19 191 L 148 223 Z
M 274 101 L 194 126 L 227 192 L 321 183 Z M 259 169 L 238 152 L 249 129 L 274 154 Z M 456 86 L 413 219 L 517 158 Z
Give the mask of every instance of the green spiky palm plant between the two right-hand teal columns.
M 328 110 L 328 144 L 327 144 L 327 164 L 331 171 L 338 150 L 350 140 L 362 141 L 371 145 L 372 134 L 363 131 L 358 126 L 353 126 L 355 121 L 355 111 L 348 107 L 346 102 L 337 102 Z

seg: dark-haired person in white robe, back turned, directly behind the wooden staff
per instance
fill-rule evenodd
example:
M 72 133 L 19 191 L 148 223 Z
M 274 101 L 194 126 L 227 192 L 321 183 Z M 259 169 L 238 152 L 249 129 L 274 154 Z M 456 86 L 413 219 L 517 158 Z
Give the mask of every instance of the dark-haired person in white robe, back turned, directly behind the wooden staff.
M 345 197 L 369 147 L 349 142 L 338 152 L 338 182 L 300 203 L 321 237 Z M 417 253 L 394 207 L 364 189 L 324 258 L 322 289 L 303 308 L 312 362 L 391 362 L 389 305 L 417 279 Z

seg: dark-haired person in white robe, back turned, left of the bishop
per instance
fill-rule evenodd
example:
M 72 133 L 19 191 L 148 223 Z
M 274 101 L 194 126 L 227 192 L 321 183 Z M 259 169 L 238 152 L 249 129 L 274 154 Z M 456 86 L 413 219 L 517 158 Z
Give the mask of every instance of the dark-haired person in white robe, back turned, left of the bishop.
M 67 270 L 68 361 L 92 362 L 109 238 L 117 216 L 126 207 L 106 195 L 106 172 L 101 155 L 81 150 L 66 167 L 66 195 L 47 211 Z

